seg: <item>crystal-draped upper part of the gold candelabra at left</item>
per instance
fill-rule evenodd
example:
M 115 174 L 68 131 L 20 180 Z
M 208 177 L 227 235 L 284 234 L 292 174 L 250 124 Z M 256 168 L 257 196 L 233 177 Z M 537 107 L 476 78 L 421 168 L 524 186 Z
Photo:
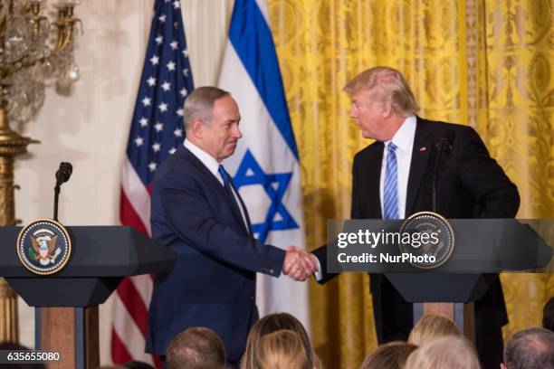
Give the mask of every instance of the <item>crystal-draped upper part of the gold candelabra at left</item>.
M 43 106 L 44 88 L 55 81 L 67 90 L 79 79 L 74 61 L 81 20 L 73 16 L 77 0 L 53 5 L 51 23 L 46 0 L 0 0 L 0 86 L 2 108 L 10 122 L 25 123 Z

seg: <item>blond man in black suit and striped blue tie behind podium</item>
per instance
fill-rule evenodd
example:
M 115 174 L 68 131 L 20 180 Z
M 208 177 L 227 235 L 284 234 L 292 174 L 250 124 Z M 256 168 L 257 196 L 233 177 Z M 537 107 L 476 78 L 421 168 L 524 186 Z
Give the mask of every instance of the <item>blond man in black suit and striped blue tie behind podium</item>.
M 406 79 L 390 67 L 362 71 L 344 87 L 350 118 L 361 136 L 375 139 L 354 156 L 351 219 L 406 219 L 435 211 L 445 218 L 512 218 L 518 189 L 489 155 L 471 127 L 416 115 L 416 98 Z M 325 283 L 326 248 L 316 278 Z M 382 274 L 372 274 L 370 291 L 379 344 L 406 341 L 413 307 Z M 508 321 L 501 283 L 492 276 L 475 301 L 477 352 L 485 368 L 502 361 L 501 327 Z

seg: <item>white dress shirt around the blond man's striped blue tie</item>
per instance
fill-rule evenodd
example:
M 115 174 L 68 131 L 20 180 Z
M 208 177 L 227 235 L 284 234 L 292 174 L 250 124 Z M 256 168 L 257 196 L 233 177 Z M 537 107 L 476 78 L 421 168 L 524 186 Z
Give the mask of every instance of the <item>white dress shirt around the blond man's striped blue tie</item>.
M 396 146 L 396 172 L 398 175 L 398 216 L 400 219 L 406 218 L 406 193 L 407 181 L 410 175 L 410 164 L 412 163 L 412 150 L 414 148 L 414 138 L 416 137 L 416 116 L 407 117 L 402 126 L 398 128 L 395 136 L 390 141 L 385 142 L 383 149 L 383 161 L 381 162 L 381 179 L 379 183 L 379 198 L 381 200 L 381 214 L 384 216 L 383 206 L 383 185 L 385 184 L 385 172 L 387 171 L 388 144 L 394 143 Z

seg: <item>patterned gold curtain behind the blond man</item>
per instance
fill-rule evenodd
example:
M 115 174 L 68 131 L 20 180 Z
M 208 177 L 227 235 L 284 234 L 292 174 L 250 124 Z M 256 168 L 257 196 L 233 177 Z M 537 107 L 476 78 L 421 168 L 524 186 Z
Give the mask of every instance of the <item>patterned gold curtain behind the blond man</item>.
M 301 156 L 310 249 L 326 219 L 349 218 L 352 157 L 368 146 L 341 92 L 359 71 L 402 71 L 426 118 L 477 128 L 521 194 L 520 218 L 554 217 L 551 0 L 269 0 Z M 510 325 L 539 326 L 550 275 L 502 275 Z M 525 301 L 525 303 L 521 303 Z M 313 343 L 328 368 L 356 368 L 377 344 L 368 277 L 310 281 Z

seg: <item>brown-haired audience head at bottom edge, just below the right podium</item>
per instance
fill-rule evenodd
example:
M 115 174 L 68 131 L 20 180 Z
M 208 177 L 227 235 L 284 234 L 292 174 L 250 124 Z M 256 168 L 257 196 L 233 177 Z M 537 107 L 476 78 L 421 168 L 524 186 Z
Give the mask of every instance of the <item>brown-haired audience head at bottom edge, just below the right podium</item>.
M 404 369 L 408 356 L 416 348 L 416 345 L 400 341 L 380 345 L 366 357 L 359 369 Z

